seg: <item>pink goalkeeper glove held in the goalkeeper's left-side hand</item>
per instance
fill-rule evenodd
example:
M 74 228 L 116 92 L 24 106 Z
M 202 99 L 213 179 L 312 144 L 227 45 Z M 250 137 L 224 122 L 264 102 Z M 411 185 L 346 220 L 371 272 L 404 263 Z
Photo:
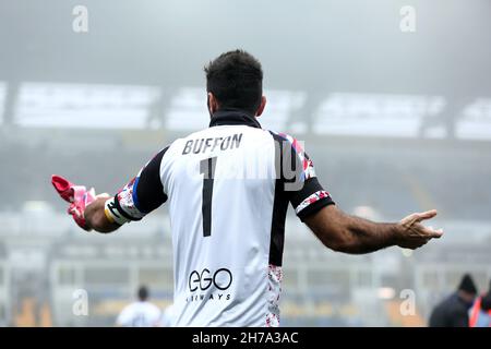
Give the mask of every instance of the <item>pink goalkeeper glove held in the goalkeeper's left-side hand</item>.
M 84 185 L 75 185 L 69 180 L 56 174 L 51 177 L 51 183 L 61 198 L 70 203 L 68 214 L 72 215 L 79 227 L 89 231 L 91 228 L 86 225 L 84 212 L 85 207 L 96 198 L 94 188 L 87 191 Z

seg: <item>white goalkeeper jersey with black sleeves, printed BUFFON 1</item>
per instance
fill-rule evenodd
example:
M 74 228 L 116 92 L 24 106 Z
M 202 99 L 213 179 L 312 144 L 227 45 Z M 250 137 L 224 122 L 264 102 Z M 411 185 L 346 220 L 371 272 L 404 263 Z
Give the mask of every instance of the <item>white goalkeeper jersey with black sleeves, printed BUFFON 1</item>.
M 117 195 L 139 220 L 167 202 L 173 326 L 278 326 L 285 219 L 333 204 L 310 158 L 286 134 L 239 110 L 159 152 Z

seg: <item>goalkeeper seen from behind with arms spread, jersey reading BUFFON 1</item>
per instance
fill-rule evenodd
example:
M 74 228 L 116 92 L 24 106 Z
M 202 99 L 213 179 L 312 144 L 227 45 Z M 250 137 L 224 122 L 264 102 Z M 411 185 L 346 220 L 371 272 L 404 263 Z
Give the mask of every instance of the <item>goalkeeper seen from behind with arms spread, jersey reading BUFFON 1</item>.
M 327 248 L 369 253 L 417 249 L 441 230 L 435 210 L 398 222 L 345 214 L 292 136 L 262 129 L 260 62 L 242 50 L 205 68 L 209 127 L 165 146 L 115 196 L 95 196 L 55 177 L 85 230 L 117 230 L 164 203 L 172 229 L 175 326 L 278 326 L 285 219 L 291 205 Z M 209 116 L 208 116 L 209 115 Z M 267 118 L 267 116 L 266 116 Z

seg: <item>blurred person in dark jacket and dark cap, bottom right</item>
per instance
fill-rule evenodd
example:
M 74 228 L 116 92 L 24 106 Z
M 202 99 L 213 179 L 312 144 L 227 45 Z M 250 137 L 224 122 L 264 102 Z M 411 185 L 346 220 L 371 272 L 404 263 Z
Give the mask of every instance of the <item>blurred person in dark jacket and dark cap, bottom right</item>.
M 468 327 L 468 312 L 477 292 L 470 275 L 464 275 L 457 291 L 434 308 L 430 316 L 430 327 Z

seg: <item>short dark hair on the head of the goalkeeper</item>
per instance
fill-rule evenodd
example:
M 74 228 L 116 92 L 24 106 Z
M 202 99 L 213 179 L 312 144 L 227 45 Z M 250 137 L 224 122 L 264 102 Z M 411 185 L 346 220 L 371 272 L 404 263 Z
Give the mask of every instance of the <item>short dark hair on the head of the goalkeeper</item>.
M 219 108 L 237 108 L 255 113 L 263 95 L 263 69 L 258 59 L 244 50 L 221 53 L 205 68 L 206 91 Z

